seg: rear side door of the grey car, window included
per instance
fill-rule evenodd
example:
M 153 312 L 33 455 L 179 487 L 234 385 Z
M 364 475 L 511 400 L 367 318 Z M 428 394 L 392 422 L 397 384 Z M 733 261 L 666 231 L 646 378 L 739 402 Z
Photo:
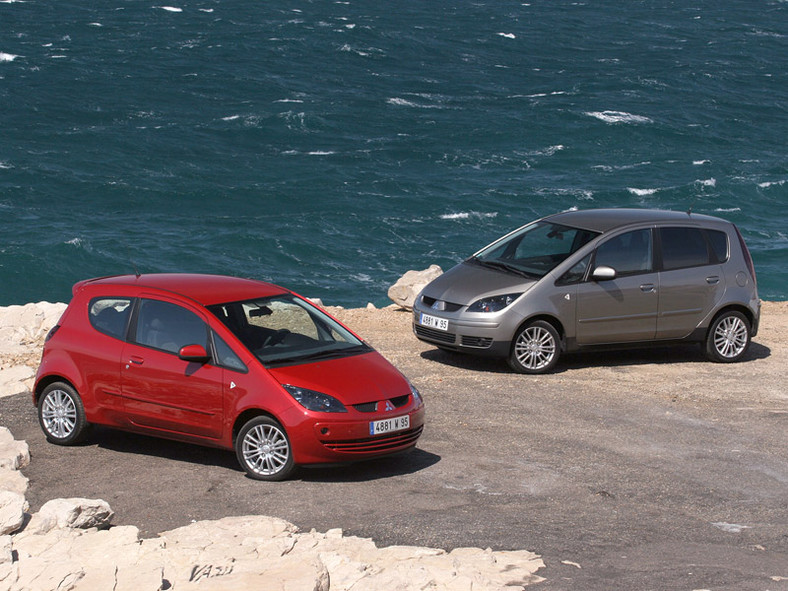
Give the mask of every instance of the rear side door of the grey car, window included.
M 725 286 L 722 265 L 706 240 L 707 231 L 692 227 L 665 227 L 657 231 L 662 261 L 657 338 L 683 338 L 722 297 Z M 724 232 L 717 234 L 727 240 Z M 724 254 L 727 256 L 727 249 Z

